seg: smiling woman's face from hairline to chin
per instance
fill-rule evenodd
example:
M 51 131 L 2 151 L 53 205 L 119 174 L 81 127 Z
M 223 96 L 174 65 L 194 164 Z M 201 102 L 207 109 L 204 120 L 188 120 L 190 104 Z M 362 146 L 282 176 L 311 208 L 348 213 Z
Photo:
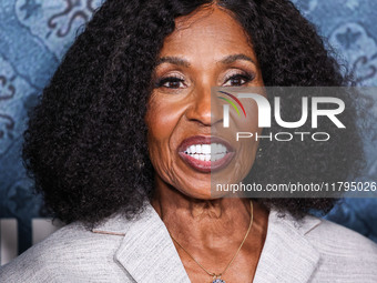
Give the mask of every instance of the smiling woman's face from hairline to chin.
M 160 53 L 145 118 L 150 159 L 157 182 L 212 199 L 211 181 L 237 183 L 254 163 L 257 142 L 235 142 L 235 132 L 262 130 L 252 100 L 241 100 L 246 119 L 231 109 L 230 128 L 223 128 L 224 100 L 211 87 L 263 87 L 262 73 L 246 33 L 228 13 L 201 9 L 175 23 Z

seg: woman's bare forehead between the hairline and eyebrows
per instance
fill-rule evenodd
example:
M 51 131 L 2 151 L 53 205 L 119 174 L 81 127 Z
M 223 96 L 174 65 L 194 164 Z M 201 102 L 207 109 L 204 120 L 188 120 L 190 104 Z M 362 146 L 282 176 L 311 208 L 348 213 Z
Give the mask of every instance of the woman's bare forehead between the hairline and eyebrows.
M 247 33 L 226 11 L 217 7 L 202 8 L 175 19 L 175 30 L 165 38 L 165 53 L 200 52 L 207 49 L 253 52 Z

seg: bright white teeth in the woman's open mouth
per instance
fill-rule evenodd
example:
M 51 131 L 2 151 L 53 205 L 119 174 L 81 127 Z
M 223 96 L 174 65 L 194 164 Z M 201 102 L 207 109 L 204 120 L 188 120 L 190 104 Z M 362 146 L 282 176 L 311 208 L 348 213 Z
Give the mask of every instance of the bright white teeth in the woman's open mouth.
M 201 161 L 216 161 L 226 155 L 227 149 L 221 143 L 192 144 L 185 150 L 185 153 Z

